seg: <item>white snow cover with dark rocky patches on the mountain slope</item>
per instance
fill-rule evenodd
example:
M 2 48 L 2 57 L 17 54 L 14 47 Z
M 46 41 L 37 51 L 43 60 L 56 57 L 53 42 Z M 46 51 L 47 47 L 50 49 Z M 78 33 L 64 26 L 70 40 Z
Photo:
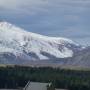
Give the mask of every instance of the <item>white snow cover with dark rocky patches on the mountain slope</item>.
M 48 37 L 27 32 L 8 22 L 0 22 L 0 53 L 13 53 L 31 60 L 72 57 L 78 44 L 66 38 Z

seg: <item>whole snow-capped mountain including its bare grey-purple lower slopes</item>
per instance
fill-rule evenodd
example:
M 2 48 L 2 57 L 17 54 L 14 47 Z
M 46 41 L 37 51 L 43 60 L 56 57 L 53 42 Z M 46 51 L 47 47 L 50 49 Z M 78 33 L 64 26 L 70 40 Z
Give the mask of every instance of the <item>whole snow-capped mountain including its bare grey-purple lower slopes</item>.
M 0 63 L 90 67 L 90 47 L 0 22 Z

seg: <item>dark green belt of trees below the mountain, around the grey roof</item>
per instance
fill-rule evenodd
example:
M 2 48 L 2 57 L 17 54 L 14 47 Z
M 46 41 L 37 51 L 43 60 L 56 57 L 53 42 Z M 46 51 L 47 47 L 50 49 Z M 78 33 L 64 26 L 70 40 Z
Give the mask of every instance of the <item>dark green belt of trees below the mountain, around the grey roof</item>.
M 28 81 L 52 82 L 56 88 L 90 90 L 90 71 L 49 67 L 0 67 L 0 88 L 24 87 Z

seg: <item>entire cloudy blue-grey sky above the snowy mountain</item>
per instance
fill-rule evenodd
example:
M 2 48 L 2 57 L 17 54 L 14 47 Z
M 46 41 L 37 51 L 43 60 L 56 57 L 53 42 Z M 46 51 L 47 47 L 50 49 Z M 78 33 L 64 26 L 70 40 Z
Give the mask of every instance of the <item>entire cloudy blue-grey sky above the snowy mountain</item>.
M 0 20 L 90 45 L 90 0 L 0 0 Z

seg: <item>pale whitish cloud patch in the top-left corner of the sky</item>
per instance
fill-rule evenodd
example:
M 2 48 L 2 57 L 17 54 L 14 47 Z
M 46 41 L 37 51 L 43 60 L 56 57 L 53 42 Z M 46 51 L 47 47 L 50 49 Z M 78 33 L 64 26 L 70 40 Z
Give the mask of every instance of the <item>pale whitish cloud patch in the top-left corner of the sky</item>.
M 16 9 L 20 7 L 32 7 L 43 5 L 43 0 L 0 0 L 0 7 L 5 9 Z

